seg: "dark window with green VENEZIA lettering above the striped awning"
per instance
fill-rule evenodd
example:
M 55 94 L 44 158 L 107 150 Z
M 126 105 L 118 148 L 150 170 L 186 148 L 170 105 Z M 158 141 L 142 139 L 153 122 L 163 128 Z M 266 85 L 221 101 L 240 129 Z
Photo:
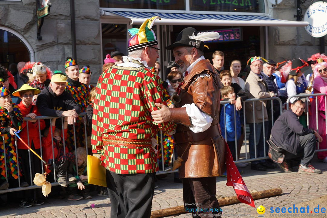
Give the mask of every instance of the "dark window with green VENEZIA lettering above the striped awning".
M 264 13 L 263 0 L 190 0 L 190 10 Z

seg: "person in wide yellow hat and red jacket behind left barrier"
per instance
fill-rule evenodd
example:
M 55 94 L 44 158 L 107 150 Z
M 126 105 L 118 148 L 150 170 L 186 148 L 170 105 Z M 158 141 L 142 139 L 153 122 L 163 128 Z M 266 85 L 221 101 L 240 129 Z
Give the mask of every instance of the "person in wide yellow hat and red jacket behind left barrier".
M 37 107 L 32 105 L 33 96 L 40 93 L 40 90 L 34 89 L 27 84 L 24 84 L 19 90 L 12 93 L 13 96 L 19 97 L 21 102 L 18 107 L 23 117 L 34 119 L 36 116 L 41 116 Z M 27 128 L 28 125 L 28 128 Z M 29 120 L 23 122 L 22 131 L 19 136 L 22 140 L 28 143 L 29 147 L 33 149 L 38 155 L 41 156 L 39 129 L 45 127 L 44 120 Z M 36 173 L 42 172 L 41 161 L 36 155 L 30 154 L 29 149 L 20 141 L 17 140 L 17 148 L 19 157 L 21 157 L 23 177 L 26 185 L 34 185 L 33 178 Z M 31 167 L 30 167 L 31 166 Z M 29 173 L 31 171 L 31 174 Z M 32 176 L 32 177 L 31 177 Z M 21 185 L 22 186 L 22 185 Z M 21 199 L 20 207 L 28 208 L 32 205 L 42 205 L 44 202 L 37 199 L 36 189 L 28 189 L 24 191 L 24 198 Z

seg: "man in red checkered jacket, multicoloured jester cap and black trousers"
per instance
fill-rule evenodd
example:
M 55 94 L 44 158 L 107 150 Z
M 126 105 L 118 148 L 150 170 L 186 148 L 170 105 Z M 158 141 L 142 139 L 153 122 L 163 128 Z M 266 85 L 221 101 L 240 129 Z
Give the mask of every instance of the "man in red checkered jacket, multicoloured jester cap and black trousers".
M 166 105 L 162 81 L 149 69 L 159 58 L 158 41 L 151 27 L 129 29 L 129 56 L 102 73 L 94 100 L 93 155 L 106 170 L 111 217 L 150 217 L 158 163 L 151 139 L 158 129 L 173 132 L 168 121 L 156 124 L 151 111 Z

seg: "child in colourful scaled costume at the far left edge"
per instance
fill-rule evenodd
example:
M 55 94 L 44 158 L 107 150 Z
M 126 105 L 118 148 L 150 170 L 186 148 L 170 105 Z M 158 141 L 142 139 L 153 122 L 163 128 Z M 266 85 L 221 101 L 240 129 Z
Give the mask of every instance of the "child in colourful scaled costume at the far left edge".
M 2 70 L 2 69 L 1 69 Z M 17 105 L 11 102 L 10 92 L 0 85 L 0 190 L 18 186 L 18 173 L 22 176 L 21 168 L 18 170 L 18 157 L 16 154 L 15 139 L 10 134 L 22 129 L 24 118 Z M 10 132 L 10 133 L 9 133 Z M 6 171 L 7 170 L 7 171 Z M 21 181 L 23 182 L 23 181 Z

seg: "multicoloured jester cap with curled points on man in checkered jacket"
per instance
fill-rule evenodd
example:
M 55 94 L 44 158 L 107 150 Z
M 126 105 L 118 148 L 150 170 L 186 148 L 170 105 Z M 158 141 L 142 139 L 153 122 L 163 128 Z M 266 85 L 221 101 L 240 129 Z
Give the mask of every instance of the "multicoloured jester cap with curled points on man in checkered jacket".
M 134 51 L 139 48 L 144 48 L 146 46 L 157 45 L 158 41 L 156 35 L 152 30 L 155 20 L 161 20 L 160 17 L 151 17 L 147 19 L 139 29 L 132 28 L 129 29 L 129 35 L 131 38 L 128 41 L 128 51 Z

